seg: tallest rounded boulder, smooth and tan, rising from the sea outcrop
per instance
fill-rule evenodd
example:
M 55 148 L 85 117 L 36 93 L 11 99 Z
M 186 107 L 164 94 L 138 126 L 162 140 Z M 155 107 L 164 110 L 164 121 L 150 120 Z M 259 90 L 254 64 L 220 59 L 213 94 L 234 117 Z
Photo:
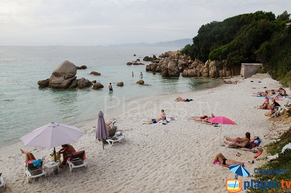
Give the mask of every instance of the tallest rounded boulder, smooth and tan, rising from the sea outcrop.
M 75 76 L 76 73 L 76 66 L 72 62 L 65 60 L 53 70 L 49 78 L 49 88 L 68 88 L 69 84 L 77 78 Z

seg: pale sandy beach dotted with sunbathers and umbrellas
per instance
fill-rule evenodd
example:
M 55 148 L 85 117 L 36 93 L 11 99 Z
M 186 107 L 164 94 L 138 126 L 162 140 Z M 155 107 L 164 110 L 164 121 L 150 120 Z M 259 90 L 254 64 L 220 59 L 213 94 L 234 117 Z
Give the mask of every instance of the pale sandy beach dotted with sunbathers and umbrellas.
M 253 80 L 254 82 L 250 82 Z M 258 83 L 261 81 L 261 83 Z M 78 168 L 72 173 L 68 166 L 62 168 L 59 175 L 50 175 L 32 179 L 28 184 L 24 177 L 25 157 L 20 150 L 3 149 L 0 152 L 0 173 L 7 182 L 3 193 L 31 192 L 103 192 L 103 193 L 226 193 L 225 182 L 234 174 L 227 168 L 211 164 L 214 156 L 221 152 L 226 158 L 247 162 L 254 160 L 252 152 L 221 147 L 219 143 L 220 127 L 195 123 L 187 120 L 191 116 L 226 116 L 237 125 L 223 125 L 223 136 L 259 135 L 261 146 L 274 140 L 276 130 L 286 130 L 287 125 L 271 124 L 264 116 L 266 110 L 254 106 L 263 103 L 263 98 L 253 97 L 252 93 L 264 88 L 279 88 L 280 84 L 270 78 L 244 79 L 236 85 L 224 85 L 219 88 L 191 92 L 181 97 L 193 99 L 192 102 L 174 102 L 176 95 L 132 102 L 135 108 L 127 113 L 116 115 L 117 126 L 126 134 L 126 140 L 113 147 L 95 141 L 95 132 L 90 132 L 96 121 L 79 125 L 86 132 L 76 150 L 86 151 L 88 168 Z M 287 90 L 288 94 L 290 90 Z M 278 101 L 279 104 L 285 100 Z M 135 104 L 135 105 L 134 105 Z M 167 116 L 178 120 L 166 125 L 142 124 L 154 118 L 164 109 Z M 22 147 L 24 148 L 24 147 Z M 51 150 L 43 148 L 24 148 L 32 151 L 36 158 L 49 159 Z M 60 149 L 58 147 L 57 149 Z M 236 152 L 242 154 L 235 157 Z M 266 155 L 266 152 L 260 157 Z M 253 169 L 263 164 L 245 164 L 253 174 Z M 250 177 L 240 177 L 250 180 Z M 242 191 L 244 192 L 244 191 Z

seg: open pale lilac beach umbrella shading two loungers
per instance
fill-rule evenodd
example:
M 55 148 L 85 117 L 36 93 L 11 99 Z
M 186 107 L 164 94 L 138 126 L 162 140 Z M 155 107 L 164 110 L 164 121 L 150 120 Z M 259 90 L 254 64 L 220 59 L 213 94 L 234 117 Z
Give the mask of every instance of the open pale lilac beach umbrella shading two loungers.
M 49 123 L 26 134 L 20 140 L 23 141 L 26 147 L 44 147 L 48 149 L 53 147 L 53 153 L 56 155 L 56 146 L 75 143 L 84 134 L 75 126 Z

